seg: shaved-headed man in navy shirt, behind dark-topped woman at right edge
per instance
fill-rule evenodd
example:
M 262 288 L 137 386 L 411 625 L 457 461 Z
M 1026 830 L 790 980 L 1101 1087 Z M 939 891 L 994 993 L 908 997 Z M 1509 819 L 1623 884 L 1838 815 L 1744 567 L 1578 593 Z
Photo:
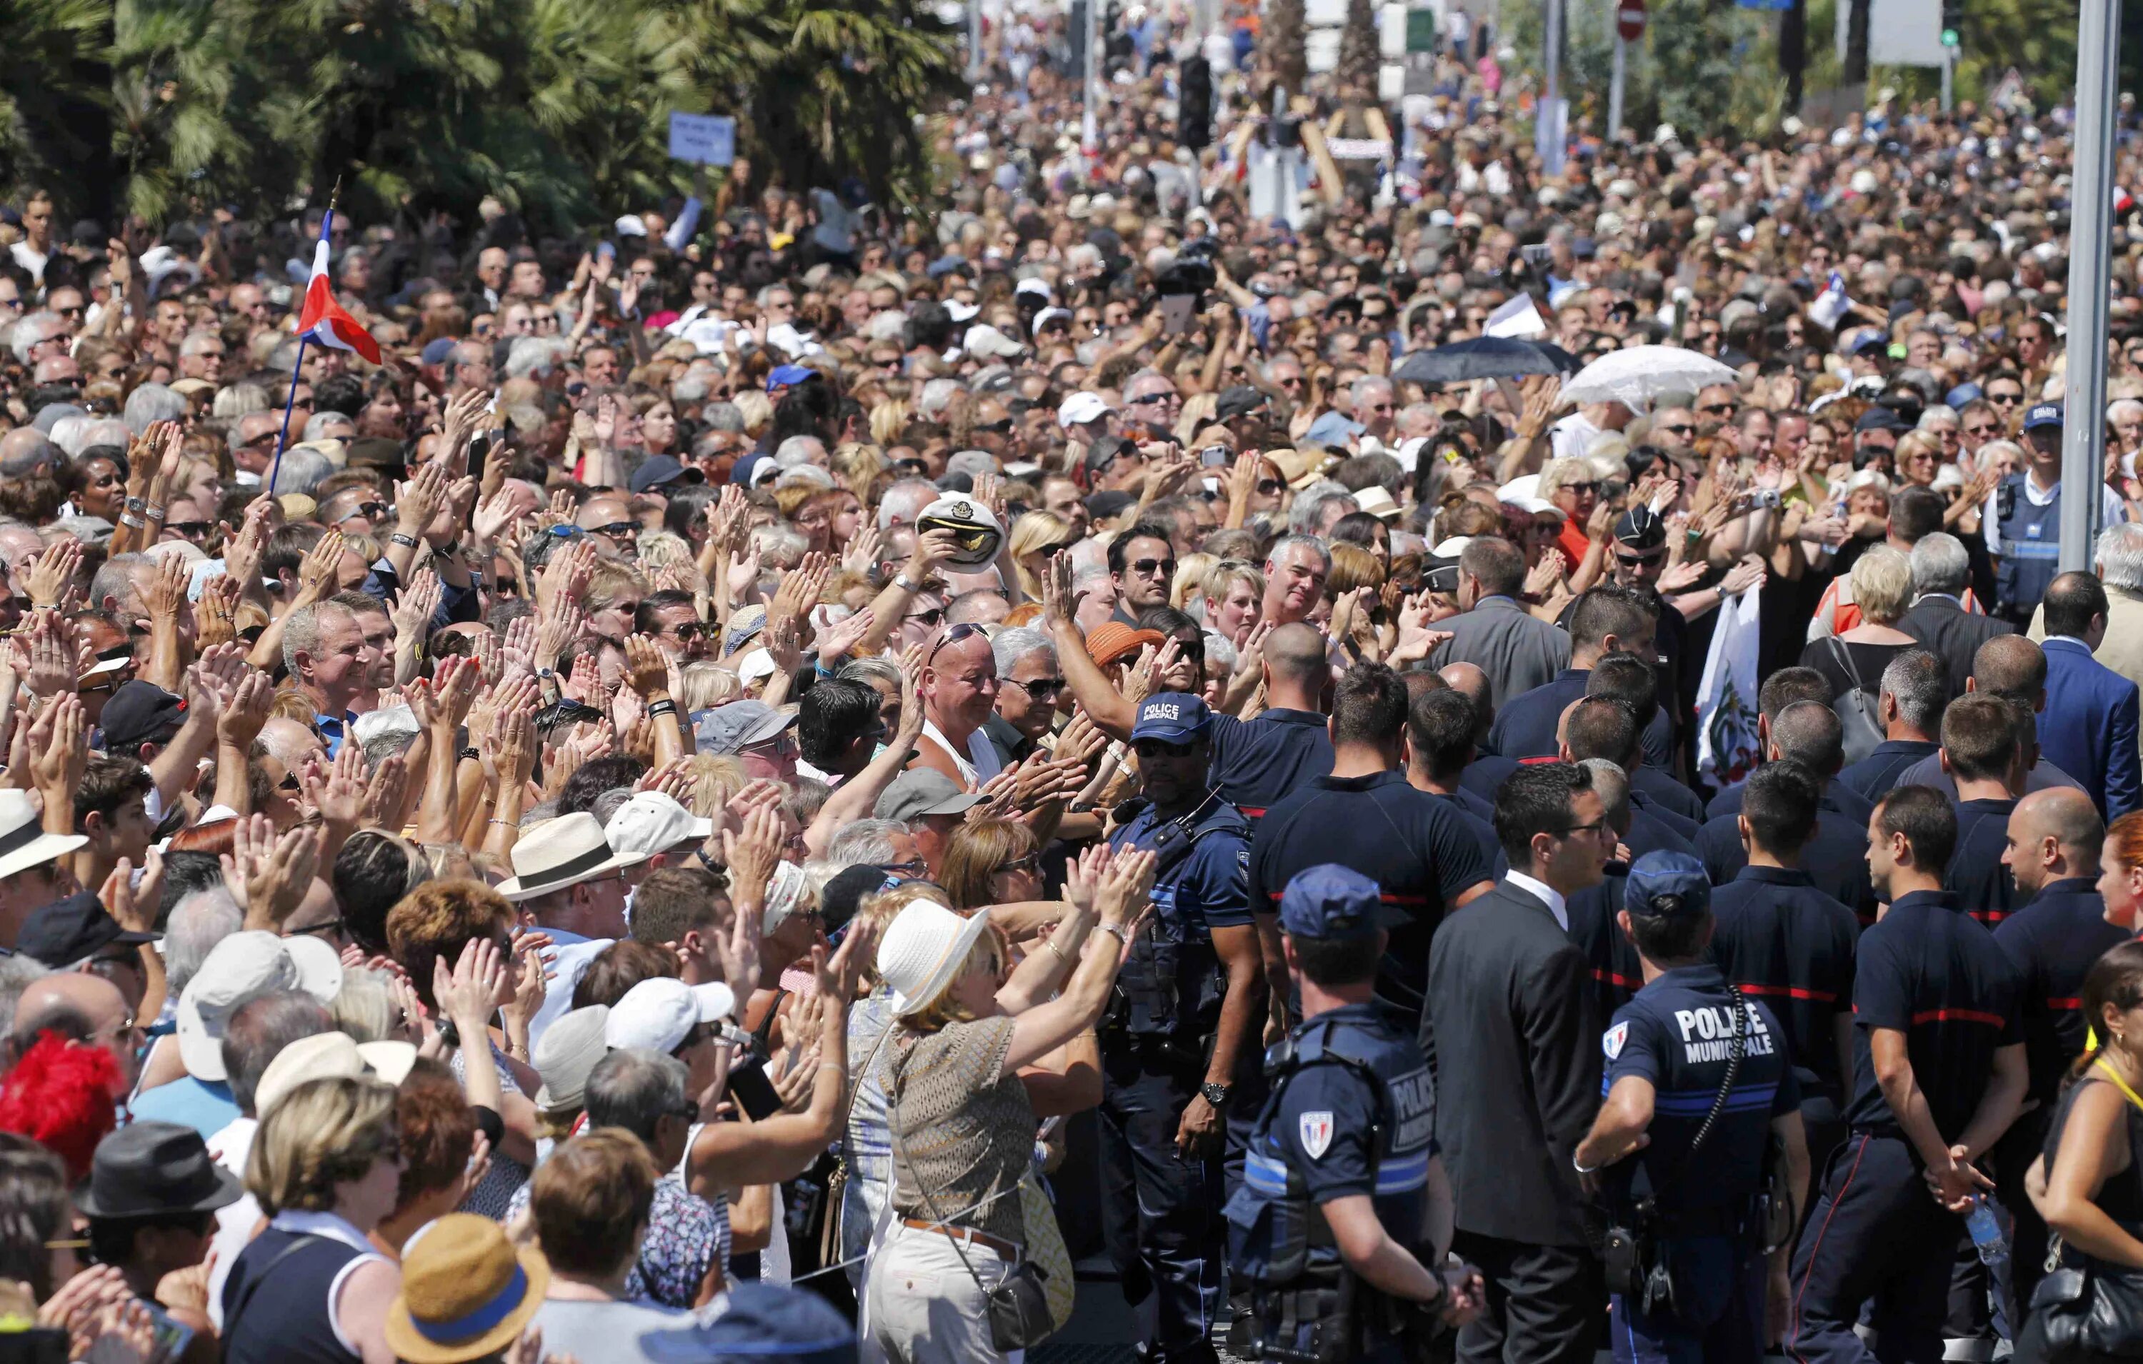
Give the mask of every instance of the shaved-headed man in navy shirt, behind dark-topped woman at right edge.
M 2128 940 L 2130 925 L 2107 916 L 2098 897 L 2098 850 L 2107 837 L 2098 807 L 2081 790 L 2036 790 L 2008 818 L 2002 861 L 2029 901 L 1995 927 L 1995 942 L 2017 964 L 2019 1013 L 2029 1066 L 2029 1109 L 1993 1148 L 1995 1191 L 2017 1216 L 2017 1302 L 2029 1302 L 2044 1272 L 2047 1223 L 2023 1195 L 2023 1176 L 2047 1139 L 2070 1058 L 2083 1051 L 2083 976 L 2107 949 Z

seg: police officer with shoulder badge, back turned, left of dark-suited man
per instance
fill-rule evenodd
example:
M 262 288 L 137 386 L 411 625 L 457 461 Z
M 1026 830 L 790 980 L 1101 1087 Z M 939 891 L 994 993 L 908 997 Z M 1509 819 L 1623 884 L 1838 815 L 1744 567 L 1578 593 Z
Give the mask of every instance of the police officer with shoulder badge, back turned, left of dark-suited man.
M 1230 1353 L 1380 1364 L 1479 1310 L 1481 1276 L 1444 1259 L 1436 1083 L 1372 1002 L 1387 914 L 1378 884 L 1337 865 L 1279 897 L 1303 1021 L 1267 1058 L 1273 1092 L 1228 1199 L 1228 1263 L 1254 1285 Z

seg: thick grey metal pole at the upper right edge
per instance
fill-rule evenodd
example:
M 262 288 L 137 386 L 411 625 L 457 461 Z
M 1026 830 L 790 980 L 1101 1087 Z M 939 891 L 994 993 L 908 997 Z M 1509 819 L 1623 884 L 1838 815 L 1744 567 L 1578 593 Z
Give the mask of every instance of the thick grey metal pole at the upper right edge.
M 2077 24 L 2077 141 L 2068 216 L 2068 413 L 2062 424 L 2062 572 L 2092 567 L 2107 482 L 2107 291 L 2113 251 L 2117 0 L 2083 0 Z

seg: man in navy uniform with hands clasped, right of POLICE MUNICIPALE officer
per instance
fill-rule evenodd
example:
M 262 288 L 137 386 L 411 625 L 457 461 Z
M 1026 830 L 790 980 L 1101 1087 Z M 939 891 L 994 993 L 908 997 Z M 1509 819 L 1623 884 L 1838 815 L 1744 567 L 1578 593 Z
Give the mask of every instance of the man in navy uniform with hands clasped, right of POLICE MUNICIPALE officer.
M 1854 1334 L 1869 1300 L 1879 1358 L 1942 1358 L 1959 1214 L 1993 1188 L 1974 1163 L 2023 1105 L 2017 974 L 1942 889 L 1954 844 L 1931 786 L 1897 786 L 1869 816 L 1869 880 L 1890 908 L 1856 949 L 1854 1098 L 1794 1248 L 1794 1360 L 1875 1358 Z

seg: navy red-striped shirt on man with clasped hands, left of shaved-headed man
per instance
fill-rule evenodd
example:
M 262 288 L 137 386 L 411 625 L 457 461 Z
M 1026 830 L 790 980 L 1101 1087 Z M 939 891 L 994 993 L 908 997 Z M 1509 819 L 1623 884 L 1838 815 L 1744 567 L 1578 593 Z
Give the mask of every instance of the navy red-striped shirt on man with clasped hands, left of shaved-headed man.
M 1905 1034 L 1914 1081 L 1935 1131 L 1957 1141 L 1993 1077 L 1995 1051 L 2023 1043 L 2017 968 L 1987 925 L 1965 914 L 1948 891 L 1899 895 L 1882 921 L 1860 934 L 1854 961 L 1856 1133 L 1903 1137 L 1905 1128 L 1875 1079 L 1869 1036 Z

